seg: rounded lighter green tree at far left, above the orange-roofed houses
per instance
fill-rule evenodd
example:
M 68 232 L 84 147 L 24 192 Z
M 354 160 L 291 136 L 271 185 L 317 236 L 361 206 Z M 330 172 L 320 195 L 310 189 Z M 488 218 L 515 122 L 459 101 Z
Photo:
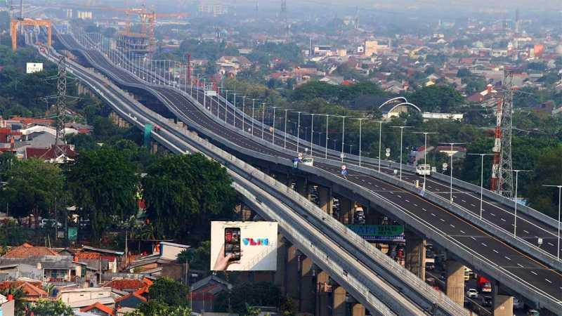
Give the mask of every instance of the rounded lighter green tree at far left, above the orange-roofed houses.
M 14 162 L 7 174 L 4 192 L 12 215 L 29 216 L 31 212 L 35 228 L 39 227 L 39 216 L 46 215 L 63 196 L 63 173 L 55 164 L 32 158 Z

